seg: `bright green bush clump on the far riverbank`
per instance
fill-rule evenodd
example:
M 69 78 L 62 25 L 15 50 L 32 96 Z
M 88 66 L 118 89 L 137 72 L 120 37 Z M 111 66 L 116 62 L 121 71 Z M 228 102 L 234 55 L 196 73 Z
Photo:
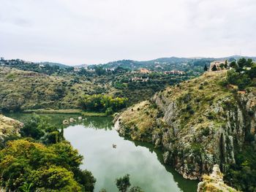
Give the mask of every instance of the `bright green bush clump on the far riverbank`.
M 111 115 L 113 112 L 127 107 L 127 101 L 127 98 L 113 98 L 101 94 L 86 95 L 80 99 L 80 105 L 86 111 L 105 112 L 107 115 Z

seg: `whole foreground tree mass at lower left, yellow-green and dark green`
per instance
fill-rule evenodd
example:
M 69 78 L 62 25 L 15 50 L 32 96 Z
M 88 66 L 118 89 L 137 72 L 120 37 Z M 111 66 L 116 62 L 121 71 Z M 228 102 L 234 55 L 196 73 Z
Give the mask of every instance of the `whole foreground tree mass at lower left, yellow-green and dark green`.
M 63 131 L 37 116 L 10 137 L 0 151 L 1 187 L 7 191 L 94 191 L 96 180 L 81 170 L 83 156 Z M 8 141 L 9 140 L 9 141 Z

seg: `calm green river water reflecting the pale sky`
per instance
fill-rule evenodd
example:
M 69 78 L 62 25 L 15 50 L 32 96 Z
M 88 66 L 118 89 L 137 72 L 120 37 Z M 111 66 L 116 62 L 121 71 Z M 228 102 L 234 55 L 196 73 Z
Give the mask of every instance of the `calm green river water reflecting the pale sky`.
M 7 116 L 25 121 L 31 114 Z M 78 115 L 42 116 L 56 125 L 61 125 L 64 119 L 78 120 Z M 111 118 L 86 118 L 64 130 L 64 137 L 84 156 L 81 168 L 89 169 L 97 178 L 94 191 L 102 188 L 108 192 L 118 191 L 115 180 L 124 174 L 130 175 L 132 185 L 146 192 L 196 191 L 197 181 L 185 180 L 171 166 L 165 166 L 160 150 L 119 137 L 111 121 Z

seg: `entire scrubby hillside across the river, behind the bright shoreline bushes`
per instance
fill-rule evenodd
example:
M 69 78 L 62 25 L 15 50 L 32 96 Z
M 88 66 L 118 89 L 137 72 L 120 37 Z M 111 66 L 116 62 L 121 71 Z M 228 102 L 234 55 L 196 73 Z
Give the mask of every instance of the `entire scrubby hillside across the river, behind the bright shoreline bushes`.
M 148 77 L 148 81 L 131 81 L 132 77 Z M 76 109 L 80 107 L 81 96 L 102 93 L 128 98 L 128 105 L 131 105 L 191 77 L 187 74 L 132 74 L 123 69 L 104 75 L 81 69 L 76 74 L 48 76 L 0 66 L 0 111 Z

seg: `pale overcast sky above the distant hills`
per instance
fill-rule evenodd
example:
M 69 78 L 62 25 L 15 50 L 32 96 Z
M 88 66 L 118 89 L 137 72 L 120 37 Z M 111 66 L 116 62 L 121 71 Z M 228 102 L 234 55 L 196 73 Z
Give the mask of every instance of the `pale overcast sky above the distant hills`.
M 256 56 L 255 0 L 0 0 L 0 55 L 103 64 Z

